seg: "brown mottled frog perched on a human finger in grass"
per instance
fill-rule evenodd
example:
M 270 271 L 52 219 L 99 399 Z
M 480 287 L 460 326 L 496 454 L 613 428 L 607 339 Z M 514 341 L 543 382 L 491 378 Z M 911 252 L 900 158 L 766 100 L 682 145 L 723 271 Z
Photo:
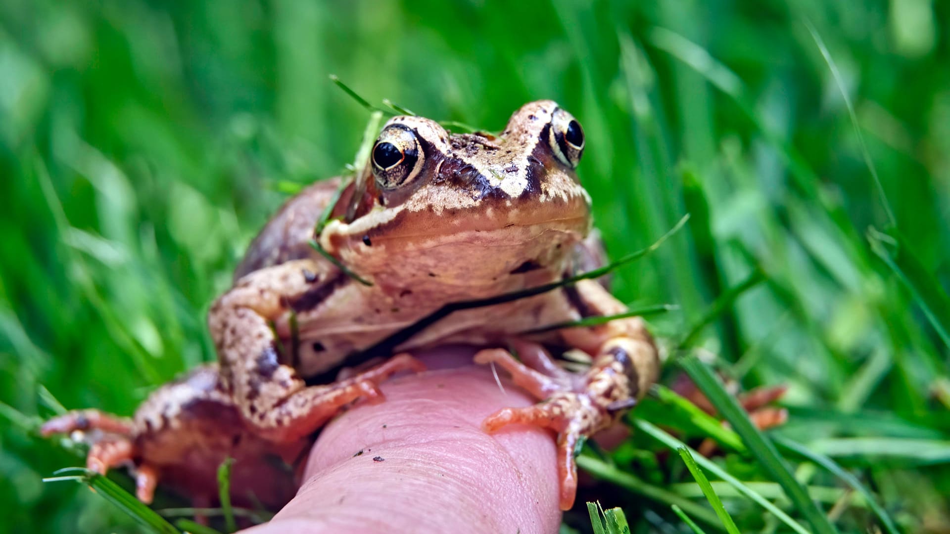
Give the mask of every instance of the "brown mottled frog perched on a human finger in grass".
M 93 471 L 131 467 L 146 503 L 159 481 L 214 500 L 230 457 L 234 494 L 280 505 L 323 425 L 382 402 L 393 375 L 423 372 L 413 352 L 464 344 L 538 399 L 482 427 L 551 430 L 570 508 L 575 449 L 636 406 L 659 369 L 642 317 L 579 324 L 627 311 L 597 280 L 571 278 L 601 261 L 577 174 L 585 142 L 550 100 L 523 105 L 497 135 L 390 118 L 352 178 L 306 187 L 253 240 L 208 313 L 216 363 L 154 391 L 132 418 L 77 410 L 43 433 L 87 439 Z M 584 368 L 568 371 L 564 353 Z

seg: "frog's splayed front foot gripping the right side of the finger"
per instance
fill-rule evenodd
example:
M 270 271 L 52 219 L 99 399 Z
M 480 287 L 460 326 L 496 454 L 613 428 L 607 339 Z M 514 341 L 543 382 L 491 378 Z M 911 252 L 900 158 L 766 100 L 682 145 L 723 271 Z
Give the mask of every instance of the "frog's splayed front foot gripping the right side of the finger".
M 611 426 L 623 411 L 637 404 L 640 392 L 637 366 L 643 365 L 638 362 L 649 359 L 653 365 L 654 354 L 653 346 L 644 340 L 618 337 L 603 344 L 588 372 L 572 374 L 542 372 L 548 364 L 542 359 L 529 361 L 529 358 L 523 358 L 531 363 L 528 367 L 506 351 L 482 351 L 475 355 L 476 363 L 500 365 L 511 373 L 515 384 L 544 401 L 527 408 L 499 410 L 489 415 L 482 426 L 488 432 L 513 424 L 557 432 L 560 505 L 563 510 L 569 509 L 574 504 L 578 487 L 575 448 L 582 438 Z

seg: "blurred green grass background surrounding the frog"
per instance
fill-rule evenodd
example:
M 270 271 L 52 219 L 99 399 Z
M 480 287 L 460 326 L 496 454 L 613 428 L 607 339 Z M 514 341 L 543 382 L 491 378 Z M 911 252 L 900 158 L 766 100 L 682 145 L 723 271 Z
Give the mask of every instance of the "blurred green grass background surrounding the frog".
M 352 162 L 369 116 L 331 73 L 489 130 L 559 101 L 614 257 L 693 215 L 615 293 L 679 304 L 653 320 L 669 347 L 760 270 L 691 348 L 747 389 L 787 384 L 776 433 L 851 470 L 902 530 L 950 532 L 948 21 L 931 0 L 3 0 L 0 532 L 136 531 L 41 482 L 81 459 L 36 423 L 129 414 L 214 357 L 204 315 L 250 238 L 295 184 Z M 705 503 L 637 440 L 621 470 Z M 798 517 L 754 458 L 717 462 Z M 841 531 L 876 524 L 793 467 Z M 617 486 L 584 497 L 637 532 L 689 531 Z M 742 531 L 788 531 L 723 499 Z

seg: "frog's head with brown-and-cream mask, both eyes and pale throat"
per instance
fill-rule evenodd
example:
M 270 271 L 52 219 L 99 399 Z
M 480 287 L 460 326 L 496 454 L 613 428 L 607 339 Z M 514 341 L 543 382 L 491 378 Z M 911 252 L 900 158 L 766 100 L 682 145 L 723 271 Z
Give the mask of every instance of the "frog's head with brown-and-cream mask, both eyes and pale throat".
M 560 276 L 590 229 L 575 168 L 584 134 L 551 101 L 523 105 L 499 136 L 449 134 L 421 117 L 393 117 L 373 145 L 366 180 L 324 248 L 388 288 L 481 296 Z M 362 191 L 360 191 L 362 189 Z

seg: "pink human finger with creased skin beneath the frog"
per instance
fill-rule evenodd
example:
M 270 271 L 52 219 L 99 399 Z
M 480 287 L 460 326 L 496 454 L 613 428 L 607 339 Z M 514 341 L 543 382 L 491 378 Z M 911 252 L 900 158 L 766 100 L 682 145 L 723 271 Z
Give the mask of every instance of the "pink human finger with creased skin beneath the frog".
M 460 369 L 387 382 L 386 402 L 333 421 L 314 446 L 310 478 L 295 500 L 252 531 L 557 532 L 551 434 L 521 426 L 486 434 L 486 415 L 533 400 L 510 383 L 500 391 L 469 357 Z M 446 358 L 428 362 L 444 366 Z M 376 456 L 385 460 L 374 462 Z

